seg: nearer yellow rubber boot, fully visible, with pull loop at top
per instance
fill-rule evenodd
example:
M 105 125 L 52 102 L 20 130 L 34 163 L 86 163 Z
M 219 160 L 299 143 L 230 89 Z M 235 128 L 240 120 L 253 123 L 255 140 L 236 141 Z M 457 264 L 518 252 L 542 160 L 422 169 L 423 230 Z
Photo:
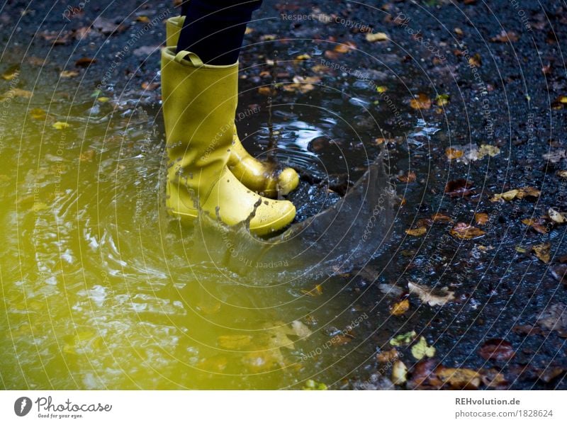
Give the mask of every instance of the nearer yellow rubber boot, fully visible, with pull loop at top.
M 237 85 L 238 62 L 208 65 L 191 52 L 162 50 L 167 207 L 181 220 L 193 220 L 199 208 L 227 225 L 249 219 L 250 231 L 265 235 L 291 223 L 296 208 L 259 196 L 228 169 Z

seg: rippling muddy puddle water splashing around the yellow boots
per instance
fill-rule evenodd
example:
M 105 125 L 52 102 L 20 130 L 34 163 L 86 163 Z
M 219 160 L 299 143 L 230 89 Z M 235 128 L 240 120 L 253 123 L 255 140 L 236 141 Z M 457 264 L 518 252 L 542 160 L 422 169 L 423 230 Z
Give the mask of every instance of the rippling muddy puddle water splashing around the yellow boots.
M 380 254 L 394 218 L 369 137 L 381 134 L 352 125 L 364 104 L 338 115 L 341 94 L 313 98 L 321 108 L 274 103 L 277 157 L 303 175 L 298 223 L 255 239 L 244 225 L 167 215 L 159 108 L 38 81 L 4 109 L 2 387 L 303 387 L 372 356 L 365 339 L 345 344 L 375 317 L 340 278 Z M 267 121 L 239 122 L 255 154 Z

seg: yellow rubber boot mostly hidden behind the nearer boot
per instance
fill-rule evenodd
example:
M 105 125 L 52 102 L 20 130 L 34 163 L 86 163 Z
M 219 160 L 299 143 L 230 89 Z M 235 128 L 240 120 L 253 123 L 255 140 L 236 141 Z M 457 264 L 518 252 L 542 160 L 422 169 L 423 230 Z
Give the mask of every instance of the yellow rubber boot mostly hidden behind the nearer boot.
M 176 47 L 184 21 L 185 16 L 174 16 L 167 20 L 167 47 Z M 242 146 L 236 125 L 232 142 L 228 168 L 247 188 L 269 198 L 276 198 L 278 194 L 287 195 L 297 188 L 299 176 L 296 170 L 286 167 L 277 174 L 274 166 L 252 157 Z

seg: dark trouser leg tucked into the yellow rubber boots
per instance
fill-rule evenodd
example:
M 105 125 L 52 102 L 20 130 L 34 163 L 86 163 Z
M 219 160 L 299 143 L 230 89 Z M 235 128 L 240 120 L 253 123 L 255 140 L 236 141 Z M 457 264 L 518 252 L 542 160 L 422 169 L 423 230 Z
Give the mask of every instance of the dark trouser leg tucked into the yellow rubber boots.
M 262 0 L 189 0 L 181 7 L 185 24 L 177 51 L 196 53 L 206 64 L 229 65 L 238 60 L 246 24 Z

